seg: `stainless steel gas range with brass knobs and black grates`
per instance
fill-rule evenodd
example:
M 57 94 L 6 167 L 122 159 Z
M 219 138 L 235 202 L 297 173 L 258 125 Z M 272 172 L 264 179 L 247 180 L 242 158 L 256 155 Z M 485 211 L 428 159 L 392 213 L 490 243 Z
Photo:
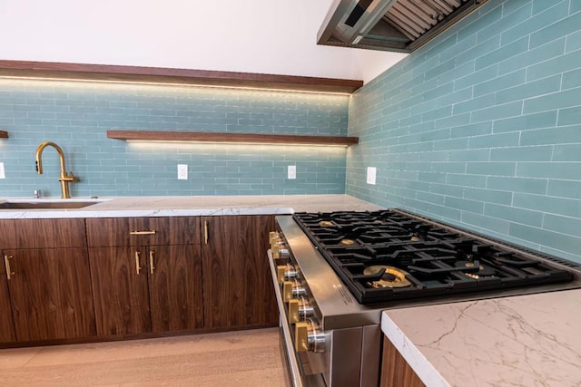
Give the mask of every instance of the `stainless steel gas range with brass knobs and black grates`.
M 383 310 L 581 287 L 576 263 L 401 209 L 277 224 L 269 259 L 295 386 L 377 386 Z

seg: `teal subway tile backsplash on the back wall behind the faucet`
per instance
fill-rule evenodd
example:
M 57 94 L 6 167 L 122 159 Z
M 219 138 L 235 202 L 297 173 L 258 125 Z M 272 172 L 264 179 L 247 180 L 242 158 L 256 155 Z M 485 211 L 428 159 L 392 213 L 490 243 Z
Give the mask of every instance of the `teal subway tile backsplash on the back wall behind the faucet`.
M 195 87 L 51 81 L 0 81 L 0 143 L 6 179 L 0 196 L 60 196 L 58 160 L 34 152 L 44 140 L 64 150 L 81 181 L 74 196 L 266 195 L 344 193 L 346 150 L 313 146 L 129 143 L 106 131 L 236 131 L 347 134 L 349 96 Z M 177 164 L 188 164 L 188 180 Z M 297 179 L 286 179 L 287 165 Z M 307 168 L 308 166 L 308 168 Z

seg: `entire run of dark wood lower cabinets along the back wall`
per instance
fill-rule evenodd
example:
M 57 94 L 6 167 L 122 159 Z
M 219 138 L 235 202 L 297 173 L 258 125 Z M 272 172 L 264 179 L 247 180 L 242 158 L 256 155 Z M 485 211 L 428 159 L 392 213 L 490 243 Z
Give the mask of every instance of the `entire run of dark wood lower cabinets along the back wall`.
M 274 227 L 274 216 L 0 219 L 0 343 L 275 326 Z

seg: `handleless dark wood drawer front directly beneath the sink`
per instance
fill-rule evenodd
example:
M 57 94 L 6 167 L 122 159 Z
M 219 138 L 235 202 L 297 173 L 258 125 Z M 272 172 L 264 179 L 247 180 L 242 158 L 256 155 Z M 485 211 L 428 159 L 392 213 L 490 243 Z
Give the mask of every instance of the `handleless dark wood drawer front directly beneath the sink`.
M 83 218 L 0 219 L 2 248 L 86 247 Z

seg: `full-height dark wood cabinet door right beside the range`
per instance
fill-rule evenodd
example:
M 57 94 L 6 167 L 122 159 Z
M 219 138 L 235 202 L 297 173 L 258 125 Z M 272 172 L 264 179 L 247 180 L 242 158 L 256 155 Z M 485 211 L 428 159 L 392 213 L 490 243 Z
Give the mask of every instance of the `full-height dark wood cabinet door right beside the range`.
M 204 324 L 278 324 L 266 251 L 272 216 L 202 218 Z

